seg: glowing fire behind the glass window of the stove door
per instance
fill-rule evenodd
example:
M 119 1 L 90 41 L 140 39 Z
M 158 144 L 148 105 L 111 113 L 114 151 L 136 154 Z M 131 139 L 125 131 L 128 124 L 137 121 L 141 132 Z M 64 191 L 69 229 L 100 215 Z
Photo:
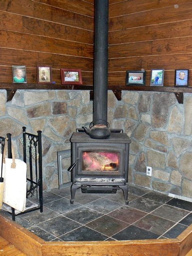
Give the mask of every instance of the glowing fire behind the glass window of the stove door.
M 119 152 L 83 151 L 82 171 L 118 171 Z

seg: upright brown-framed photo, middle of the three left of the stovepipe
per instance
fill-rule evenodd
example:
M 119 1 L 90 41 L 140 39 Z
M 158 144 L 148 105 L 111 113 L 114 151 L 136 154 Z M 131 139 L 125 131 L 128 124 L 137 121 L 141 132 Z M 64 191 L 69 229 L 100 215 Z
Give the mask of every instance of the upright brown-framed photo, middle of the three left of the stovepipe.
M 52 83 L 51 66 L 37 66 L 37 83 Z

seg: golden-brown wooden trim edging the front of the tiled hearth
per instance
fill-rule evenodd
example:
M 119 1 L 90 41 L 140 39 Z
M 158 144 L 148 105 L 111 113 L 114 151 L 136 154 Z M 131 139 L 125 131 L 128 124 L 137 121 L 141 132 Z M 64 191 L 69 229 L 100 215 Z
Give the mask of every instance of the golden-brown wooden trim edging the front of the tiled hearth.
M 29 256 L 184 256 L 192 248 L 192 225 L 177 239 L 83 242 L 45 242 L 2 215 L 0 227 L 0 235 Z

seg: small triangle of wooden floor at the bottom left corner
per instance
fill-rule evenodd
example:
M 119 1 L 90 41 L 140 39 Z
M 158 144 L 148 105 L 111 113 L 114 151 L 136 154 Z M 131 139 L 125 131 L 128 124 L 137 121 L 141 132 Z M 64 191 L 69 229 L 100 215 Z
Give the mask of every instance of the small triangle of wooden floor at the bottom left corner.
M 1 256 L 26 256 L 15 245 L 0 236 L 0 255 Z

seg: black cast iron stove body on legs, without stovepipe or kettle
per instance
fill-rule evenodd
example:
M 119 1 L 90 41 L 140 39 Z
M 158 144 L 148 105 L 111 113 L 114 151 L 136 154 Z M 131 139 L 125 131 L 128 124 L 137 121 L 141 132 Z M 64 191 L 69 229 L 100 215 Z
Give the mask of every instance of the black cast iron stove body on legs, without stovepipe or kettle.
M 124 192 L 128 204 L 128 156 L 130 139 L 122 130 L 111 129 L 109 139 L 92 139 L 77 129 L 71 141 L 71 200 L 75 192 L 111 192 L 117 186 Z

